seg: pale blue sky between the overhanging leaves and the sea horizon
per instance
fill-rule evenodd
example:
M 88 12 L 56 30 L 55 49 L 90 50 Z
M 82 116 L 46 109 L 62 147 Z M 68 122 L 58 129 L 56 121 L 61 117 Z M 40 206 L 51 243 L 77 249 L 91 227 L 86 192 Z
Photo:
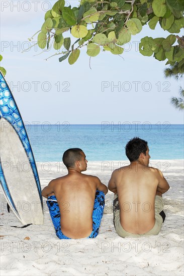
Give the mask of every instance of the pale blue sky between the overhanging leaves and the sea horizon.
M 1 66 L 7 70 L 6 79 L 25 122 L 183 123 L 183 113 L 170 104 L 181 81 L 165 79 L 165 61 L 144 57 L 136 49 L 144 36 L 169 35 L 159 24 L 154 31 L 144 26 L 132 36 L 122 58 L 108 52 L 91 58 L 91 69 L 84 48 L 74 65 L 67 60 L 59 63 L 59 56 L 45 61 L 56 50 L 40 54 L 41 49 L 33 47 L 22 53 L 32 45 L 28 38 L 41 29 L 46 11 L 55 2 L 1 1 Z

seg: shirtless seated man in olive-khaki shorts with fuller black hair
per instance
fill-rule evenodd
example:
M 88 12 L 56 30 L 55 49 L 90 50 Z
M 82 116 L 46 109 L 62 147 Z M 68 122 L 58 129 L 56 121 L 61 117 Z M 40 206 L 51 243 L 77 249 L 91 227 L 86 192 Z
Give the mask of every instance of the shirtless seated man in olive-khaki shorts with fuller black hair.
M 165 219 L 162 194 L 169 185 L 149 165 L 147 142 L 134 137 L 126 145 L 130 165 L 112 173 L 108 189 L 115 193 L 114 225 L 121 237 L 157 235 Z

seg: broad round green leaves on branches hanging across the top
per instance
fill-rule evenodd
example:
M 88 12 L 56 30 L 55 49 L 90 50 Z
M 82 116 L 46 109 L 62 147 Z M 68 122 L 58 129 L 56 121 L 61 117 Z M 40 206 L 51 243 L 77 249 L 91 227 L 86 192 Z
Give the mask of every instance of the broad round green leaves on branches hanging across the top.
M 184 63 L 184 38 L 175 35 L 184 27 L 183 0 L 81 0 L 73 8 L 66 4 L 59 0 L 46 12 L 37 39 L 41 49 L 60 51 L 60 62 L 68 58 L 69 64 L 75 63 L 82 48 L 90 57 L 101 49 L 120 55 L 143 25 L 154 30 L 159 24 L 169 35 L 142 38 L 140 53 L 170 65 Z

